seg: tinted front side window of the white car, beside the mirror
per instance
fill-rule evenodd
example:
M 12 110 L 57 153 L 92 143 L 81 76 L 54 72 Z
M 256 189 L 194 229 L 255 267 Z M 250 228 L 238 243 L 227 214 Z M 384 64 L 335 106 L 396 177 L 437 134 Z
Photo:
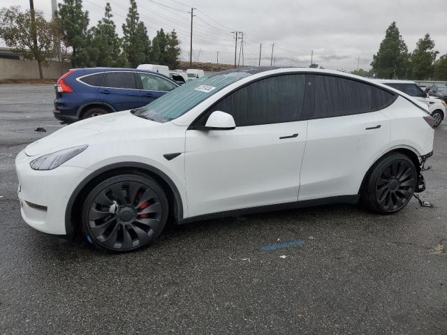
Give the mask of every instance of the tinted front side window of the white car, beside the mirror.
M 307 119 L 306 75 L 279 75 L 248 84 L 212 110 L 233 115 L 236 126 L 278 124 Z

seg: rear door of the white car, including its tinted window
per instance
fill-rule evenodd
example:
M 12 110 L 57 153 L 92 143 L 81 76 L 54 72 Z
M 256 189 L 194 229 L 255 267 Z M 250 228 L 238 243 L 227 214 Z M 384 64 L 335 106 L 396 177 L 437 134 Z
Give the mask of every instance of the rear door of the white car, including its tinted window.
M 356 195 L 374 159 L 390 142 L 381 112 L 397 95 L 330 75 L 309 75 L 314 114 L 307 127 L 298 200 Z

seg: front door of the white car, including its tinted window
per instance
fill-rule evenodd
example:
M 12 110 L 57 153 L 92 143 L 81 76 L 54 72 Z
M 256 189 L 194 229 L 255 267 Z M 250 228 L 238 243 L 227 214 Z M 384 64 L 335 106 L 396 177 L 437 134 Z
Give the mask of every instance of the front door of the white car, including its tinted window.
M 215 110 L 236 128 L 201 129 Z M 308 112 L 305 75 L 247 84 L 210 108 L 186 131 L 188 216 L 296 202 Z

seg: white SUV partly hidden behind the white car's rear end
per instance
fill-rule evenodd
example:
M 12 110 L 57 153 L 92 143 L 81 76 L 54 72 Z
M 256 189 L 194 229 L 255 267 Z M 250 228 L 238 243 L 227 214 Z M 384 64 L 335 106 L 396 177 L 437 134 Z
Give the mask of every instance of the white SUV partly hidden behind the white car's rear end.
M 426 103 L 428 106 L 428 110 L 430 115 L 432 115 L 434 119 L 434 127 L 436 128 L 441 124 L 442 120 L 446 117 L 446 103 L 439 98 L 432 98 L 427 96 L 427 94 L 418 87 L 416 82 L 411 80 L 377 80 L 382 84 L 386 84 L 389 87 L 393 87 L 394 89 L 398 89 L 399 91 L 408 94 L 409 96 L 413 96 L 413 98 L 418 99 L 418 101 L 422 101 Z

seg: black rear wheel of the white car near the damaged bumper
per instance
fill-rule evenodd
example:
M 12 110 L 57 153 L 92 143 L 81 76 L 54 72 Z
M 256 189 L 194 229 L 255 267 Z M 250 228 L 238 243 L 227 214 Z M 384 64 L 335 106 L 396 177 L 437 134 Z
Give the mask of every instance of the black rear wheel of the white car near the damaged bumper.
M 417 173 L 411 159 L 392 153 L 378 161 L 362 190 L 362 202 L 379 214 L 392 214 L 408 204 L 416 189 Z

